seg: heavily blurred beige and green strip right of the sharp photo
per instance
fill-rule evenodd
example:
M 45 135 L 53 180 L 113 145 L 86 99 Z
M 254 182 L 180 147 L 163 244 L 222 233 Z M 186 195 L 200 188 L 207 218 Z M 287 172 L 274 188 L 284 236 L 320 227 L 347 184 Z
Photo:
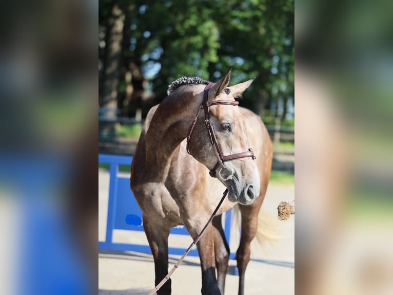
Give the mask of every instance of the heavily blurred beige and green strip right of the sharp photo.
M 391 1 L 295 3 L 296 293 L 393 293 Z

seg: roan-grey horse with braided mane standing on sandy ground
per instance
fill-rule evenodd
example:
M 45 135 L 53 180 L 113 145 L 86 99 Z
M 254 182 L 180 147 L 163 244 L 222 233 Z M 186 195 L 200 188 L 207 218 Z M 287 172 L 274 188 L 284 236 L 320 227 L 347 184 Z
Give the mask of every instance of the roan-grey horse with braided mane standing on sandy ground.
M 168 96 L 145 119 L 131 163 L 130 187 L 143 212 L 155 285 L 168 274 L 170 229 L 184 225 L 191 237 L 197 236 L 226 188 L 228 197 L 197 244 L 201 292 L 224 294 L 230 251 L 221 214 L 238 205 L 241 239 L 236 257 L 239 294 L 244 294 L 273 149 L 261 118 L 235 100 L 253 79 L 228 87 L 230 75 L 217 83 L 199 77 L 175 80 Z M 170 279 L 157 293 L 171 293 Z

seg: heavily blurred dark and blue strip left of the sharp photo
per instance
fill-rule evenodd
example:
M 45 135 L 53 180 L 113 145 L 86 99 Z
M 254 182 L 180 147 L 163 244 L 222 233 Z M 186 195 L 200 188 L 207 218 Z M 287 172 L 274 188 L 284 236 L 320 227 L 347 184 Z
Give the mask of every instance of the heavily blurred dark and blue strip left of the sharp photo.
M 0 293 L 96 293 L 98 3 L 1 7 Z

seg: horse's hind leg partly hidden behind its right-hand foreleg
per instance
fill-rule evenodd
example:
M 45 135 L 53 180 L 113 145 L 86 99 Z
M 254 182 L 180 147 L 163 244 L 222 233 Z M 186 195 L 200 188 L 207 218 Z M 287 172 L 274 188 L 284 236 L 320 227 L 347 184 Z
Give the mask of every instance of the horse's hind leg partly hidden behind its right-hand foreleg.
M 228 271 L 229 261 L 229 246 L 223 231 L 221 216 L 215 216 L 212 220 L 213 234 L 214 234 L 214 253 L 215 253 L 215 266 L 217 267 L 218 285 L 221 294 L 224 294 L 225 278 Z

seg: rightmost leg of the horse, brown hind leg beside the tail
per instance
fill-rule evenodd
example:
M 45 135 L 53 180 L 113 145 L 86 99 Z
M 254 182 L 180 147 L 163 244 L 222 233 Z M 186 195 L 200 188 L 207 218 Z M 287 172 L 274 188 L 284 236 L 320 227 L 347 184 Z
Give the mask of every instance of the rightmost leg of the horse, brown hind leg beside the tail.
M 236 260 L 239 269 L 239 295 L 244 294 L 244 274 L 250 261 L 250 243 L 257 234 L 258 212 L 262 205 L 261 200 L 257 200 L 251 206 L 239 205 L 242 213 L 242 235 L 240 245 L 236 252 Z

